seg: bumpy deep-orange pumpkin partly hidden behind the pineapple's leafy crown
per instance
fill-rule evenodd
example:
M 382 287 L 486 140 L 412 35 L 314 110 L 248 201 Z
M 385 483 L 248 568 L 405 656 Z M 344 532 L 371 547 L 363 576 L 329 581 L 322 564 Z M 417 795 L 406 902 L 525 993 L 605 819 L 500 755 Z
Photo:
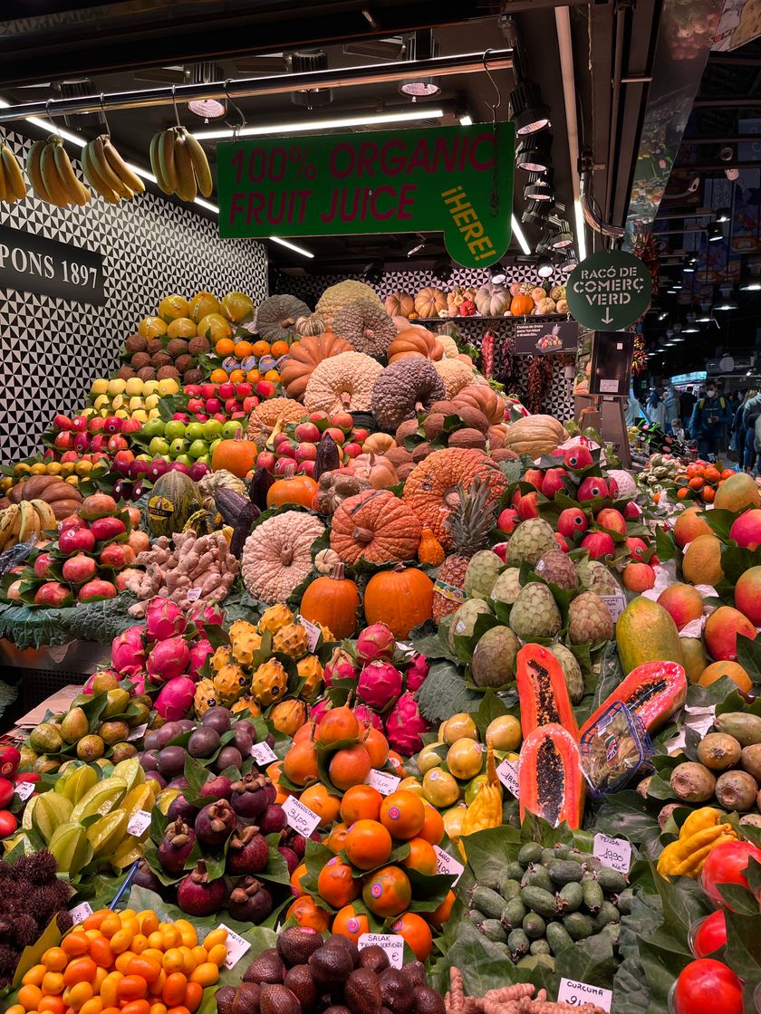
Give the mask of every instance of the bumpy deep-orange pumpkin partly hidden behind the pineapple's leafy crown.
M 495 503 L 507 487 L 505 477 L 484 451 L 445 447 L 420 461 L 404 485 L 404 502 L 445 550 L 452 545 L 446 519 L 458 503 L 457 489 L 459 486 L 469 489 L 477 478 L 489 485 L 489 505 Z

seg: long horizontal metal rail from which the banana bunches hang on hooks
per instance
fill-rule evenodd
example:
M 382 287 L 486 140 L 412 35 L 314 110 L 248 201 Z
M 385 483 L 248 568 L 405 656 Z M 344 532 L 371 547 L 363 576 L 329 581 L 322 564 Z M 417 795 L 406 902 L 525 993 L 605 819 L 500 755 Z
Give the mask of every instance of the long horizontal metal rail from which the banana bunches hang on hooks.
M 23 102 L 0 108 L 0 123 L 26 120 L 29 117 L 60 117 L 77 113 L 113 113 L 118 110 L 146 108 L 187 103 L 199 98 L 247 98 L 253 95 L 282 95 L 305 88 L 343 88 L 386 81 L 403 81 L 411 74 L 426 77 L 443 77 L 448 74 L 483 73 L 512 67 L 512 50 L 492 50 L 488 57 L 483 53 L 460 53 L 432 57 L 428 60 L 403 60 L 395 63 L 362 67 L 345 67 L 340 70 L 308 71 L 303 74 L 278 74 L 272 77 L 247 77 L 209 84 L 180 84 L 175 87 L 144 88 L 133 91 L 115 91 L 105 95 L 85 95 L 73 98 L 54 98 L 51 101 Z M 414 106 L 410 106 L 413 108 Z

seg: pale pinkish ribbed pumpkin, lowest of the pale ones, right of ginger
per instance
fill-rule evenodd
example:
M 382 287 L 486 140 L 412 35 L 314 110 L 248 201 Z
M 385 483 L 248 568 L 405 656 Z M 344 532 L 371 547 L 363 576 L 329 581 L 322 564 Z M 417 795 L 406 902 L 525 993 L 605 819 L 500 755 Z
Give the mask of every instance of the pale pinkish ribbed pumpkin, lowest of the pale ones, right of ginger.
M 312 546 L 325 531 L 313 514 L 284 511 L 258 524 L 244 547 L 244 584 L 268 605 L 284 602 L 312 572 Z

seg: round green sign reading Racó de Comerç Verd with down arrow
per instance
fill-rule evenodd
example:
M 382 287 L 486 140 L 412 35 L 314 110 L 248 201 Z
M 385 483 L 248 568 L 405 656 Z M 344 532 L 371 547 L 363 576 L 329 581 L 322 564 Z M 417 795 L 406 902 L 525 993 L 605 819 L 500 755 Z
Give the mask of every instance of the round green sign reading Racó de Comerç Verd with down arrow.
M 650 273 L 633 254 L 601 250 L 574 268 L 565 285 L 574 320 L 593 331 L 622 331 L 650 305 Z

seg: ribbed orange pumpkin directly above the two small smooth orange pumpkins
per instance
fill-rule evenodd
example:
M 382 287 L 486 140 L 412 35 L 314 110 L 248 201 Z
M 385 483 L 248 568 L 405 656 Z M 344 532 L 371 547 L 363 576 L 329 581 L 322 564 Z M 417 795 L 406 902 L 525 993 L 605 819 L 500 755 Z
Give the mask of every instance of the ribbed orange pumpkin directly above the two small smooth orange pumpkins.
M 331 525 L 331 549 L 349 566 L 414 560 L 420 545 L 420 521 L 410 507 L 388 490 L 367 490 L 338 507 Z

